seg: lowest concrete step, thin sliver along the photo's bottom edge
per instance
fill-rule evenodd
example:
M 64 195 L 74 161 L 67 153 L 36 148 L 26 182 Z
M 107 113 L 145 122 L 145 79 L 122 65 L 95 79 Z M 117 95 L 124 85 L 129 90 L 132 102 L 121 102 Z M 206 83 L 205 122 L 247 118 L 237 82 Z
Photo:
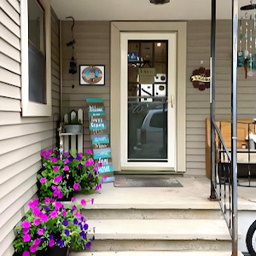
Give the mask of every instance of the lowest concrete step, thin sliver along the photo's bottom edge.
M 102 252 L 102 253 L 71 253 L 71 256 L 230 256 L 230 252 L 212 251 L 186 251 L 186 252 L 166 252 L 166 251 L 143 251 L 143 252 Z M 239 253 L 242 256 L 242 253 Z

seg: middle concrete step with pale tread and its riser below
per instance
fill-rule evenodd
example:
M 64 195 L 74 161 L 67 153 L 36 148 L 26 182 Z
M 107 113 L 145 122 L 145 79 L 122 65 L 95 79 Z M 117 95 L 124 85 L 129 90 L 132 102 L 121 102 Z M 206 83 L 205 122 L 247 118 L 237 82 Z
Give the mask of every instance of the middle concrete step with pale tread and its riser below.
M 92 250 L 230 250 L 230 233 L 222 219 L 98 219 Z

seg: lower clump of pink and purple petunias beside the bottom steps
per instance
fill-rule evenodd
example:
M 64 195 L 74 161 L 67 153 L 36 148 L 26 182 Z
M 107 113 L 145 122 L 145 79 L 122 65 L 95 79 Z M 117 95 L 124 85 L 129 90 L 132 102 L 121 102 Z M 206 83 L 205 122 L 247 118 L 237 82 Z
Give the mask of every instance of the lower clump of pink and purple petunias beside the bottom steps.
M 90 249 L 94 236 L 88 236 L 89 225 L 80 213 L 85 204 L 84 199 L 80 204 L 73 203 L 67 207 L 47 197 L 43 204 L 38 204 L 38 199 L 30 201 L 29 211 L 15 227 L 15 252 L 29 256 L 54 246 L 71 247 L 74 250 Z

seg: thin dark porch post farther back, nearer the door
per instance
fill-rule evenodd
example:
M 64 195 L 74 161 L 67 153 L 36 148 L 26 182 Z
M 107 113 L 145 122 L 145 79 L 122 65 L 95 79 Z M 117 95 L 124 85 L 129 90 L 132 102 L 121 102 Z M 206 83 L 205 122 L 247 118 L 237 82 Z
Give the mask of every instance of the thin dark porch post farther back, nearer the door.
M 215 179 L 216 179 L 216 166 L 215 166 L 215 128 L 213 122 L 215 121 L 215 83 L 216 83 L 216 0 L 212 0 L 212 28 L 211 28 L 211 196 L 210 200 L 215 200 Z

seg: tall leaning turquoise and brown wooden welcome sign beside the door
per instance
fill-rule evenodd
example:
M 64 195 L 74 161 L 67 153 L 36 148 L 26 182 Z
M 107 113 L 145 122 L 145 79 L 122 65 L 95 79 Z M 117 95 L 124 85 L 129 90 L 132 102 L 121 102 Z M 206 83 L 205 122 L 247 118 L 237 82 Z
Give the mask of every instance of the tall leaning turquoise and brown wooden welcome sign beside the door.
M 102 98 L 86 99 L 89 114 L 90 139 L 93 158 L 99 173 L 113 172 L 112 155 L 108 136 L 108 122 Z

